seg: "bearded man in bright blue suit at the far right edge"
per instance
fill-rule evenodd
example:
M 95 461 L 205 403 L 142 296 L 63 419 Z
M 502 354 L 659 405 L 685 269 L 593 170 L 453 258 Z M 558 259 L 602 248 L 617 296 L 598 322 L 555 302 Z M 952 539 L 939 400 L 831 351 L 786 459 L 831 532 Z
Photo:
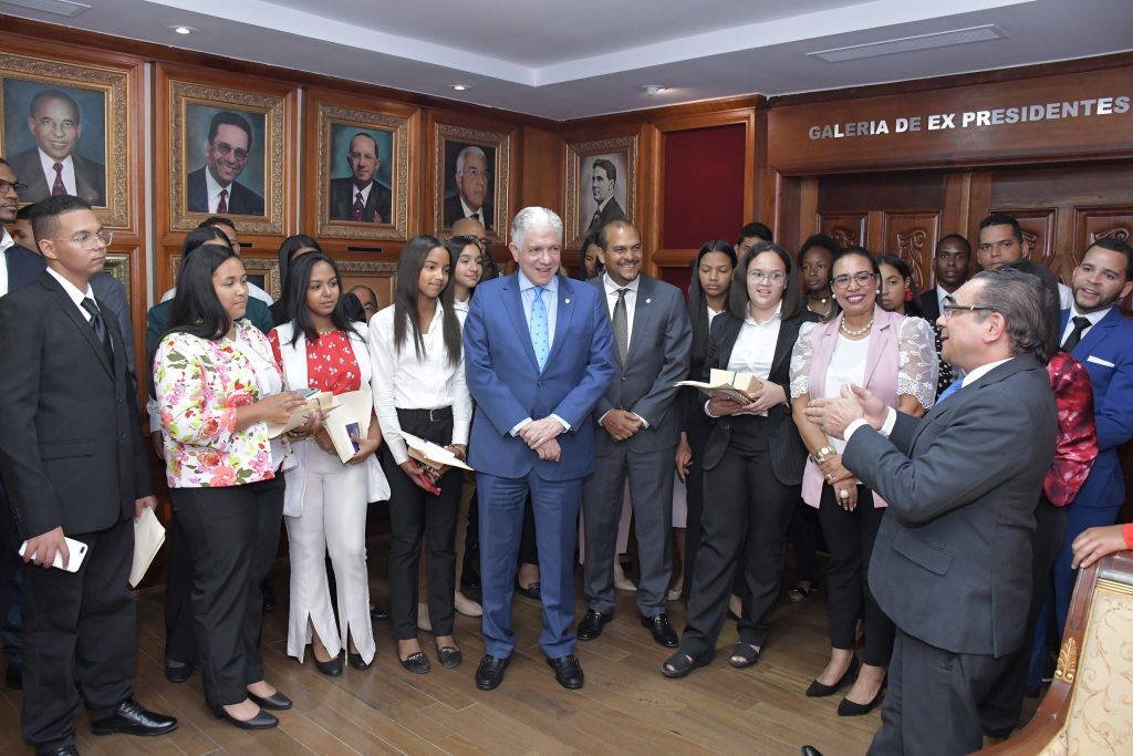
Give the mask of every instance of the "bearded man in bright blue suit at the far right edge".
M 1028 677 L 1031 688 L 1041 681 L 1051 608 L 1057 628 L 1066 626 L 1077 577 L 1071 566 L 1074 538 L 1087 528 L 1113 525 L 1125 501 L 1117 448 L 1133 436 L 1133 322 L 1117 306 L 1133 291 L 1133 248 L 1121 239 L 1097 239 L 1074 269 L 1073 290 L 1074 304 L 1063 311 L 1060 343 L 1082 363 L 1093 383 L 1098 457 L 1066 512 L 1066 540 L 1055 562 L 1053 602 L 1048 597 L 1034 630 Z

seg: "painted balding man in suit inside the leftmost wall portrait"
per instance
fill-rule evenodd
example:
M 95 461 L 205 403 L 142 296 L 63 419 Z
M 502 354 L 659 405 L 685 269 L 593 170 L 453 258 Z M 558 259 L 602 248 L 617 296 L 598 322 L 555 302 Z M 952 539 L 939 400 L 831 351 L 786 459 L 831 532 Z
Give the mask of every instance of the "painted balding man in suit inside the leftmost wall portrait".
M 27 128 L 36 146 L 10 159 L 12 170 L 27 185 L 24 202 L 69 194 L 105 205 L 107 169 L 75 152 L 83 134 L 78 103 L 59 90 L 45 90 L 32 97 L 28 110 Z

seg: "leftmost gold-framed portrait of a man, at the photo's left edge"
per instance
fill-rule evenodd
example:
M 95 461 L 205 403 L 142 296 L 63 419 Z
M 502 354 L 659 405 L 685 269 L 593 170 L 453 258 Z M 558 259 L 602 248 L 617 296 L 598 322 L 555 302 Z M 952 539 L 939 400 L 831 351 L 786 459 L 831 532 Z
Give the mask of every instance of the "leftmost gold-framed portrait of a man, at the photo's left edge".
M 0 145 L 22 204 L 70 194 L 107 228 L 130 227 L 129 76 L 0 52 Z

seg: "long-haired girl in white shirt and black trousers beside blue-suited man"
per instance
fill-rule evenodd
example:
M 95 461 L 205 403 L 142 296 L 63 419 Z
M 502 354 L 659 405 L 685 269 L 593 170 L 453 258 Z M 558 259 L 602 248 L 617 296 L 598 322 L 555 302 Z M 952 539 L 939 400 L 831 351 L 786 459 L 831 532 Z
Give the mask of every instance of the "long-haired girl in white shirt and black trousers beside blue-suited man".
M 465 459 L 471 399 L 461 349 L 463 314 L 453 307 L 452 261 L 440 239 L 416 236 L 401 252 L 392 307 L 369 322 L 374 402 L 390 479 L 390 619 L 398 659 L 424 674 L 429 661 L 417 639 L 417 566 L 425 537 L 428 614 L 443 666 L 460 664 L 452 637 L 453 540 L 463 475 L 412 459 L 402 432 Z

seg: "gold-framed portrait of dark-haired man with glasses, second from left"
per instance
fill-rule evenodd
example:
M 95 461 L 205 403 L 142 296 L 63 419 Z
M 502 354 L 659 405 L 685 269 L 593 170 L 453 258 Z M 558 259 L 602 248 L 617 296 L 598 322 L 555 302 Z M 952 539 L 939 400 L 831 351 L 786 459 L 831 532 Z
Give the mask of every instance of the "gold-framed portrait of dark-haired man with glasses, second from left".
M 228 215 L 241 233 L 281 235 L 289 99 L 167 80 L 170 230 Z

